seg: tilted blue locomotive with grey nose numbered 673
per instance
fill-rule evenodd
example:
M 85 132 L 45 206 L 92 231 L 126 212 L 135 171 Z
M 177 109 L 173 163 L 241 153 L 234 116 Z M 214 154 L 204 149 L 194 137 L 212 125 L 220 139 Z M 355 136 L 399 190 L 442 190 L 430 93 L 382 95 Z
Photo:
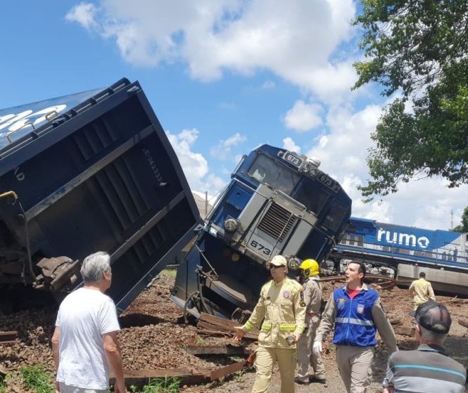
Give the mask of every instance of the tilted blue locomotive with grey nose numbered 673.
M 348 223 L 351 200 L 318 160 L 263 145 L 244 156 L 177 270 L 173 302 L 241 321 L 284 255 L 295 276 L 303 259 L 326 259 Z

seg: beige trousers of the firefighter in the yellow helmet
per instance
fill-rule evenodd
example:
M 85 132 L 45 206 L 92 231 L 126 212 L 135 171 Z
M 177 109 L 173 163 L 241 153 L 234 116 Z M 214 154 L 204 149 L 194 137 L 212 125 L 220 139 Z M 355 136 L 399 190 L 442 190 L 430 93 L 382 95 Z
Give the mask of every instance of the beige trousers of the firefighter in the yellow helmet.
M 302 382 L 309 382 L 309 366 L 312 366 L 315 378 L 320 380 L 326 378 L 322 357 L 320 354 L 315 355 L 312 352 L 315 330 L 317 330 L 319 325 L 320 318 L 318 316 L 312 316 L 308 323 L 307 330 L 301 335 L 298 342 L 298 379 Z

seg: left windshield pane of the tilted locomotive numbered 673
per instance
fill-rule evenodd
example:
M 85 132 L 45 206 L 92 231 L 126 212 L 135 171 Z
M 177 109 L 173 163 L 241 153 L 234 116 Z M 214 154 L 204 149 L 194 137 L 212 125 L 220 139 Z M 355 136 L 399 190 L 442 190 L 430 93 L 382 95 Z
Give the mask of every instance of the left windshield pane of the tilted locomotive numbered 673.
M 252 179 L 268 184 L 271 188 L 281 190 L 288 195 L 299 180 L 298 174 L 261 154 L 248 169 L 247 174 Z

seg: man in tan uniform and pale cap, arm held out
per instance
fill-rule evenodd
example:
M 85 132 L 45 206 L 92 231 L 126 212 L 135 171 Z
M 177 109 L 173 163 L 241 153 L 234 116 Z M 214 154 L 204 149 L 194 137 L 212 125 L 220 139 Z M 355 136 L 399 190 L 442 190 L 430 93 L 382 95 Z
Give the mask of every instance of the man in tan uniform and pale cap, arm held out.
M 234 340 L 241 340 L 248 330 L 260 328 L 261 324 L 252 393 L 267 391 L 277 362 L 281 373 L 281 392 L 293 393 L 296 342 L 303 333 L 305 320 L 302 287 L 297 281 L 286 277 L 286 259 L 282 255 L 273 257 L 269 265 L 273 280 L 263 285 L 251 317 L 244 326 L 237 328 Z

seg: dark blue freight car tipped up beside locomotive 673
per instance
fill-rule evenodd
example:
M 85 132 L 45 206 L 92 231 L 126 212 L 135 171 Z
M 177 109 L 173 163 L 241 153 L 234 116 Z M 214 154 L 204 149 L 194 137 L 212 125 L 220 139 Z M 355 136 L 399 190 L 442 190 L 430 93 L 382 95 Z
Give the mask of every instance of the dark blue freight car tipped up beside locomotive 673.
M 122 311 L 180 258 L 198 219 L 138 82 L 0 110 L 3 307 L 60 298 L 103 250 Z

